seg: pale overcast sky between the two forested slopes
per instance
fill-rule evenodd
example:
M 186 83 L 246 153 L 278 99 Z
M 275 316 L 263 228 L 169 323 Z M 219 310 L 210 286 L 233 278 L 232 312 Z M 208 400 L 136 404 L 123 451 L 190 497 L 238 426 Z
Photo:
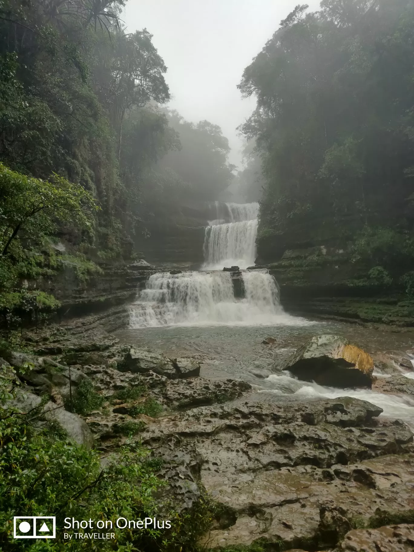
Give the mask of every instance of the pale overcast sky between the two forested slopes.
M 310 0 L 311 10 L 319 1 Z M 236 126 L 255 107 L 236 85 L 244 68 L 294 9 L 298 0 L 129 0 L 127 30 L 146 27 L 168 67 L 168 107 L 185 119 L 220 125 L 232 148 L 229 160 L 241 167 L 242 140 Z

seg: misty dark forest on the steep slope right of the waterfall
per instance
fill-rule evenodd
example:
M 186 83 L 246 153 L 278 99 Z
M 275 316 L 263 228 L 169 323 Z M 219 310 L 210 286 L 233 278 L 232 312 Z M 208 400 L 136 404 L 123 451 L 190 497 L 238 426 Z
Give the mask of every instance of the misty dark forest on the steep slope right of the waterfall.
M 298 5 L 246 67 L 241 126 L 265 180 L 259 257 L 352 244 L 383 283 L 414 268 L 414 3 Z M 404 283 L 403 282 L 403 283 Z

